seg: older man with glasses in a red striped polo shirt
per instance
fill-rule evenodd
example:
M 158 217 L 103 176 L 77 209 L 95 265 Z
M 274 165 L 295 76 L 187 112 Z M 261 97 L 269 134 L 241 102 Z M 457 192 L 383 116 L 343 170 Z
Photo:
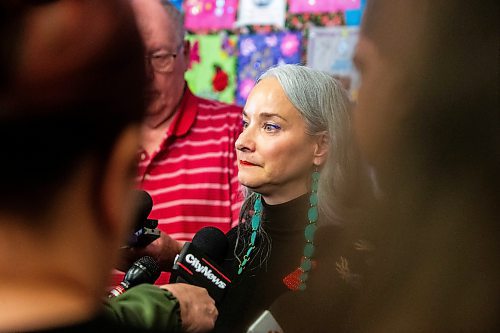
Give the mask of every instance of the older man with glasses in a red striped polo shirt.
M 184 39 L 182 14 L 170 2 L 133 0 L 132 6 L 151 79 L 139 186 L 153 198 L 149 217 L 158 219 L 162 236 L 147 251 L 132 250 L 128 264 L 147 252 L 169 270 L 182 241 L 191 240 L 202 227 L 226 232 L 238 221 L 242 198 L 234 142 L 241 132 L 242 110 L 189 90 L 184 74 L 190 45 Z M 166 282 L 165 276 L 159 281 Z

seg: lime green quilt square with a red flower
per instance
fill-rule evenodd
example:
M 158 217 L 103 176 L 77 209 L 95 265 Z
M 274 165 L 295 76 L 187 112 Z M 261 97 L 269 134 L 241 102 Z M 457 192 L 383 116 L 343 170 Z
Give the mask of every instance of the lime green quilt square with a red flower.
M 237 36 L 189 35 L 187 39 L 191 42 L 190 69 L 185 75 L 189 88 L 198 96 L 233 103 Z

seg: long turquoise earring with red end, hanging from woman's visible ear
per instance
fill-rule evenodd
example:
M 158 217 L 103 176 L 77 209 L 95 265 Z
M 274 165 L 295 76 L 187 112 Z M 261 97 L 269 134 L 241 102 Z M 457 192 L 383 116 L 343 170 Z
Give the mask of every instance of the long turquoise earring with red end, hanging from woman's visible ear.
M 304 229 L 306 244 L 300 266 L 283 278 L 283 283 L 291 290 L 305 290 L 309 272 L 314 266 L 314 234 L 316 233 L 316 222 L 318 221 L 318 181 L 319 171 L 316 166 L 312 173 L 311 195 L 309 196 L 309 210 L 307 219 L 309 223 Z

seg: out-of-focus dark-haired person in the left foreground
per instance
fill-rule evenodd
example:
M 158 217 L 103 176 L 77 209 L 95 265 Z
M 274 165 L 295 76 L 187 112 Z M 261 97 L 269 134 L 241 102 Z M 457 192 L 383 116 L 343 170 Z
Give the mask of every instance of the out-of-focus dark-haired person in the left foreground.
M 130 5 L 3 1 L 0 50 L 0 142 L 8 156 L 0 181 L 0 331 L 146 331 L 112 318 L 123 301 L 102 302 L 131 232 L 146 106 Z M 165 310 L 173 330 L 180 315 L 188 331 L 213 326 L 217 311 L 205 290 L 141 288 L 161 294 L 157 305 L 136 301 Z

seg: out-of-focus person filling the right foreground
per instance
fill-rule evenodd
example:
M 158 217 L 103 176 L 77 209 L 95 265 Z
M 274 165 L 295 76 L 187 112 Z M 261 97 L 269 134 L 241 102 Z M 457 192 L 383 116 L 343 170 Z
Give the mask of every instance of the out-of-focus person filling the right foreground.
M 353 224 L 370 251 L 336 331 L 500 328 L 498 12 L 498 1 L 368 0 L 353 124 L 379 197 Z M 318 295 L 273 306 L 285 332 L 337 327 Z

